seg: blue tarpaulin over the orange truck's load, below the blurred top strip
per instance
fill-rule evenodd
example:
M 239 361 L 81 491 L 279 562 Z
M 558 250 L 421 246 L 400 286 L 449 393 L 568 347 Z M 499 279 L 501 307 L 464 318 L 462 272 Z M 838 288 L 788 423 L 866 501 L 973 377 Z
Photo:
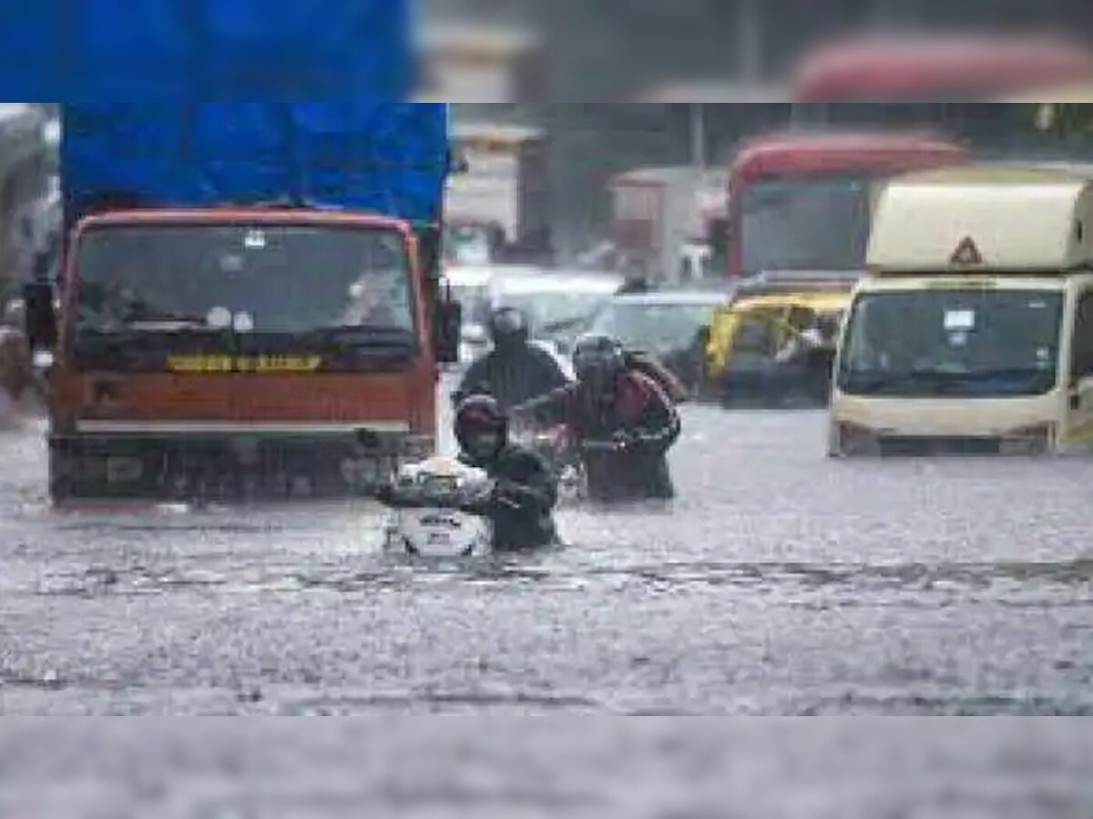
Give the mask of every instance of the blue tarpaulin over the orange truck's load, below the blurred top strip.
M 71 103 L 63 117 L 70 223 L 104 198 L 173 207 L 284 201 L 440 217 L 446 105 Z

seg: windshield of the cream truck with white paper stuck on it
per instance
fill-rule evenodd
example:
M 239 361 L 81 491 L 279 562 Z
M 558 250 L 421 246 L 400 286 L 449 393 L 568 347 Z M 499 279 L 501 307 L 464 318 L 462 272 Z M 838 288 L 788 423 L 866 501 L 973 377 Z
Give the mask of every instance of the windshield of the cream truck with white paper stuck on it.
M 838 385 L 857 395 L 1042 395 L 1058 381 L 1061 316 L 1057 290 L 863 294 Z

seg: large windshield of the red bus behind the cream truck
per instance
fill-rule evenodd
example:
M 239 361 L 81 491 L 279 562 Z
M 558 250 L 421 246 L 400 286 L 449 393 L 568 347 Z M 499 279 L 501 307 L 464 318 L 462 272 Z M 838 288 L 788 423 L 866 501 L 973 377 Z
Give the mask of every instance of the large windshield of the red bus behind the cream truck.
M 744 274 L 857 270 L 865 265 L 873 179 L 760 181 L 740 200 Z

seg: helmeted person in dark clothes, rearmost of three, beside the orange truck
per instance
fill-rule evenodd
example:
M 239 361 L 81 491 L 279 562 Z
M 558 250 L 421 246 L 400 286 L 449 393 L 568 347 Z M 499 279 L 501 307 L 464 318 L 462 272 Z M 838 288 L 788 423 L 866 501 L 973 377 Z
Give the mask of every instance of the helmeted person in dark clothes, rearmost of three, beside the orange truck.
M 453 396 L 455 404 L 470 395 L 487 394 L 503 412 L 569 382 L 561 365 L 528 340 L 525 314 L 513 307 L 490 317 L 493 349 L 472 364 Z

